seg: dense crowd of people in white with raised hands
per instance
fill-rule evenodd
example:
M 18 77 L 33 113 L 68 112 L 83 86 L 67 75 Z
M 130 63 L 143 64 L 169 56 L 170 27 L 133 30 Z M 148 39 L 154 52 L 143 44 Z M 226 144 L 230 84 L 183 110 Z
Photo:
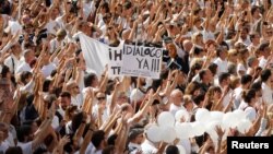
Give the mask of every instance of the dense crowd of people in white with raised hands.
M 0 0 L 0 154 L 225 154 L 224 133 L 273 134 L 272 0 Z M 81 33 L 163 48 L 161 79 L 96 74 Z M 201 108 L 242 110 L 251 128 L 149 138 L 161 112 L 193 122 Z

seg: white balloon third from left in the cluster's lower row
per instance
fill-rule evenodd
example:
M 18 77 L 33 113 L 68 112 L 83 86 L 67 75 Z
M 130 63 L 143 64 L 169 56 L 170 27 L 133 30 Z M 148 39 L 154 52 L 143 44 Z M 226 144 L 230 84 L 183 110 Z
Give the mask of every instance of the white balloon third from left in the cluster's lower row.
M 189 139 L 191 135 L 192 127 L 188 122 L 182 122 L 182 123 L 177 123 L 176 125 L 176 132 L 177 132 L 177 138 L 180 140 L 182 139 Z

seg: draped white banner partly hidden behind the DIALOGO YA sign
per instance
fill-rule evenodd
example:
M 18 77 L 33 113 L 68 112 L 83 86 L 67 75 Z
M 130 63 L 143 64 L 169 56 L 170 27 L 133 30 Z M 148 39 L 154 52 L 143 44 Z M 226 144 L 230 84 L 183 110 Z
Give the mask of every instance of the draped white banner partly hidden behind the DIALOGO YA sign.
M 93 39 L 83 33 L 79 35 L 83 57 L 88 70 L 100 75 L 106 64 L 108 64 L 108 74 L 117 76 L 121 72 L 123 42 L 119 47 L 109 47 L 96 39 Z

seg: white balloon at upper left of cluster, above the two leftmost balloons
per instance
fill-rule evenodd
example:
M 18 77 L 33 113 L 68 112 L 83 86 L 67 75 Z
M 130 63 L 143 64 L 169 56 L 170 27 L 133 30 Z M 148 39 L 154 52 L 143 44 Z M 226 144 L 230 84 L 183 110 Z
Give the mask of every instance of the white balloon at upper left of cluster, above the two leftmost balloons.
M 163 111 L 157 119 L 157 123 L 159 125 L 159 127 L 164 126 L 174 127 L 175 122 L 176 122 L 175 117 L 169 111 Z

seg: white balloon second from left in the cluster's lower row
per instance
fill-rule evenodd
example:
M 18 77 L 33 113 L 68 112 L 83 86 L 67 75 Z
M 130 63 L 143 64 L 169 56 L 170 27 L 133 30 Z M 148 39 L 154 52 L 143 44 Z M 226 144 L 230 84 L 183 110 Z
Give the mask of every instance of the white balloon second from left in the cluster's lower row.
M 161 137 L 164 142 L 171 143 L 177 138 L 176 130 L 171 127 L 163 127 Z

